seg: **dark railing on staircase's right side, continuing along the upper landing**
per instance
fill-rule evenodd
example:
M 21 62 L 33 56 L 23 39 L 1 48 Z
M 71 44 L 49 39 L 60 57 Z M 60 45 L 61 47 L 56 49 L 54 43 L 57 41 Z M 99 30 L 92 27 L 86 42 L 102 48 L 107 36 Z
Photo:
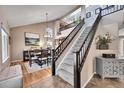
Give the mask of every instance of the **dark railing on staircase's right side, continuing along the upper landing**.
M 120 8 L 118 8 L 118 7 L 120 7 Z M 113 8 L 112 11 L 102 14 L 103 11 L 107 11 L 112 8 Z M 82 42 L 82 45 L 80 46 L 79 50 L 74 52 L 76 55 L 76 61 L 74 61 L 74 87 L 75 88 L 81 87 L 81 71 L 82 71 L 84 62 L 86 60 L 86 57 L 88 55 L 91 43 L 95 36 L 96 29 L 98 27 L 100 19 L 103 16 L 109 15 L 111 13 L 115 13 L 122 9 L 124 9 L 124 5 L 117 6 L 117 8 L 115 8 L 115 6 L 110 6 L 110 7 L 104 8 L 104 9 L 100 9 L 100 13 L 99 13 L 98 17 L 96 18 L 92 28 L 90 29 L 89 33 L 86 36 L 86 38 Z

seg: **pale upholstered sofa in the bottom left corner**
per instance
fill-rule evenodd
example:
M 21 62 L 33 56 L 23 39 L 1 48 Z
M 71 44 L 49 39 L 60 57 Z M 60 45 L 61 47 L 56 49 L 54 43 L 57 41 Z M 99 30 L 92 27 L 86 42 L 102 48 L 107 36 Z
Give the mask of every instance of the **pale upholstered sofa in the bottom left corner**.
M 0 88 L 22 88 L 22 70 L 20 65 L 10 66 L 0 74 Z

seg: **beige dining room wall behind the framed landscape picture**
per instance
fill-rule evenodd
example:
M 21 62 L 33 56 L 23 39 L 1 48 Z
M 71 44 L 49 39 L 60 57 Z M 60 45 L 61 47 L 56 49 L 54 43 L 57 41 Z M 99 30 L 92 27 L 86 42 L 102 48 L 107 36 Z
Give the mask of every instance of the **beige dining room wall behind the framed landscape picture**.
M 49 27 L 54 31 L 54 22 L 49 23 Z M 40 35 L 42 48 L 46 48 L 46 38 L 44 38 L 46 25 L 44 23 L 26 25 L 10 29 L 11 33 L 11 61 L 23 60 L 23 50 L 30 49 L 32 46 L 25 45 L 25 32 L 37 33 Z M 34 46 L 35 47 L 35 46 Z M 40 48 L 37 46 L 37 48 Z

